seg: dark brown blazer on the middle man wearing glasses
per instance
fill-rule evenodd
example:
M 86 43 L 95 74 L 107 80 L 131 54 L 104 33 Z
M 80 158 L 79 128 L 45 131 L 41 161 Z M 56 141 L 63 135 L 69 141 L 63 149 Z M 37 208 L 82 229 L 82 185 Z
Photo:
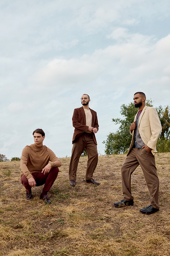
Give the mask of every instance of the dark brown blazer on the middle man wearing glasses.
M 94 128 L 97 128 L 99 130 L 97 113 L 96 113 L 96 111 L 94 111 L 92 109 L 90 109 L 90 111 L 92 114 L 91 126 Z M 73 144 L 74 141 L 80 135 L 82 135 L 85 131 L 88 131 L 88 126 L 86 125 L 86 115 L 85 115 L 83 107 L 74 109 L 72 122 L 73 122 L 73 127 L 75 128 L 74 133 L 73 133 L 73 139 L 72 139 L 72 144 Z M 97 145 L 95 133 L 92 133 L 92 136 L 93 136 L 95 144 Z

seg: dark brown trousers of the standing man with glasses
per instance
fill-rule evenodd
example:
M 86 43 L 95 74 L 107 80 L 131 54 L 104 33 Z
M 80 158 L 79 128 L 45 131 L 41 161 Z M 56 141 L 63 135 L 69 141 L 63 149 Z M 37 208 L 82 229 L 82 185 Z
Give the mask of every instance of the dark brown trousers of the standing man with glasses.
M 86 149 L 88 161 L 86 169 L 86 180 L 92 179 L 93 173 L 96 169 L 98 162 L 97 145 L 94 142 L 91 133 L 84 132 L 73 143 L 71 160 L 69 166 L 69 180 L 76 180 L 77 167 L 79 159 L 84 149 Z

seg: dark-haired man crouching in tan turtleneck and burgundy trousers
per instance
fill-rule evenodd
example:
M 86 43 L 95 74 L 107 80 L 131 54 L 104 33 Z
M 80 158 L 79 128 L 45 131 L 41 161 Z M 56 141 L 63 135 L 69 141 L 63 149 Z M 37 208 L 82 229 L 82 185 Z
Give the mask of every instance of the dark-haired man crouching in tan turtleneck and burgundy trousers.
M 26 198 L 33 199 L 32 187 L 44 185 L 40 199 L 51 203 L 47 196 L 57 175 L 58 167 L 62 165 L 50 148 L 43 145 L 45 133 L 42 129 L 33 131 L 34 144 L 24 147 L 21 156 L 21 183 L 26 188 Z M 49 163 L 49 161 L 51 161 Z

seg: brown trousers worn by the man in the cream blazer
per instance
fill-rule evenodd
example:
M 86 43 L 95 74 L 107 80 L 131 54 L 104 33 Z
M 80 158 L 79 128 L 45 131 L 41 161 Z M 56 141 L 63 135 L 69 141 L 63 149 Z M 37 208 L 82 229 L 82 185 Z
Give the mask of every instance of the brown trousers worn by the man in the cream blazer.
M 145 180 L 150 192 L 151 205 L 154 208 L 159 209 L 159 179 L 156 172 L 155 157 L 151 152 L 148 153 L 145 148 L 132 148 L 122 165 L 121 175 L 124 196 L 123 200 L 130 201 L 134 199 L 131 195 L 131 174 L 138 167 L 138 165 L 141 166 L 145 176 Z

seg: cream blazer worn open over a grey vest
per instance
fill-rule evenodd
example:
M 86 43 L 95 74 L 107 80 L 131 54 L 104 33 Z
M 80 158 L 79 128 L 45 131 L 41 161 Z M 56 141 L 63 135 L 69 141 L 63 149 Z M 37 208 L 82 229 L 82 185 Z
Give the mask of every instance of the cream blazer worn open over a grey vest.
M 139 112 L 139 111 L 138 111 Z M 138 114 L 137 112 L 137 114 Z M 134 121 L 136 121 L 137 114 L 135 115 Z M 139 134 L 142 141 L 148 147 L 152 148 L 151 152 L 153 155 L 157 153 L 156 151 L 156 142 L 159 137 L 160 132 L 162 131 L 162 126 L 156 110 L 153 107 L 146 106 L 143 108 L 140 117 L 139 117 Z M 134 144 L 135 132 L 131 132 L 132 141 L 128 151 L 128 154 Z M 127 155 L 128 155 L 127 154 Z

